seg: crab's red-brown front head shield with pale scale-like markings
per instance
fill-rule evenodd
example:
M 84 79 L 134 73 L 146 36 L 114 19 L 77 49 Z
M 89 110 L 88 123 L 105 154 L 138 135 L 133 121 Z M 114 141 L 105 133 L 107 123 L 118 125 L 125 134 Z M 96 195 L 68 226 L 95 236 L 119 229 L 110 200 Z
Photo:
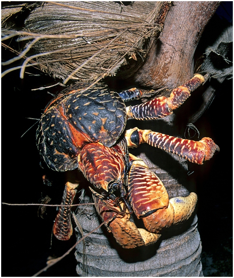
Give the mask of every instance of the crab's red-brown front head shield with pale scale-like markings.
M 109 183 L 121 180 L 125 162 L 113 148 L 90 143 L 80 152 L 79 169 L 95 187 L 108 191 Z

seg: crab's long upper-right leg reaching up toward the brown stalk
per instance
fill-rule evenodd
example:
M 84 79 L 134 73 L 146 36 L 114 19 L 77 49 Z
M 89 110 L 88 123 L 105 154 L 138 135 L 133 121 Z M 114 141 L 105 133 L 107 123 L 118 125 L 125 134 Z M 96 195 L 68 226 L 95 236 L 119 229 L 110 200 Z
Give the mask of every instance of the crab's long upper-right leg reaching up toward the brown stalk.
M 173 89 L 170 97 L 157 97 L 143 104 L 128 106 L 127 117 L 137 120 L 158 119 L 173 113 L 203 82 L 201 74 L 195 74 L 187 83 Z

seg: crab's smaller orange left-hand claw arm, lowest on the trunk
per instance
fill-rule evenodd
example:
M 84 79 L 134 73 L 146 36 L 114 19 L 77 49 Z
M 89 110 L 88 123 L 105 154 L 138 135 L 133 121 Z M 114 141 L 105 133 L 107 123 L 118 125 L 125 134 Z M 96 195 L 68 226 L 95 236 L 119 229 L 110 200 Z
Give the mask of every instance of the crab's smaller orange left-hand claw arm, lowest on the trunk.
M 120 209 L 113 205 L 112 200 L 105 200 L 105 203 L 93 194 L 94 203 L 97 213 L 103 221 L 107 221 L 107 230 L 115 237 L 116 241 L 126 249 L 135 248 L 137 246 L 149 245 L 156 242 L 161 235 L 154 234 L 145 229 L 137 228 L 135 223 L 130 221 L 129 214 L 117 215 L 116 210 L 120 212 Z M 105 206 L 108 204 L 108 206 Z M 123 203 L 121 203 L 123 207 Z M 112 211 L 110 207 L 113 207 Z M 126 210 L 128 212 L 128 210 Z

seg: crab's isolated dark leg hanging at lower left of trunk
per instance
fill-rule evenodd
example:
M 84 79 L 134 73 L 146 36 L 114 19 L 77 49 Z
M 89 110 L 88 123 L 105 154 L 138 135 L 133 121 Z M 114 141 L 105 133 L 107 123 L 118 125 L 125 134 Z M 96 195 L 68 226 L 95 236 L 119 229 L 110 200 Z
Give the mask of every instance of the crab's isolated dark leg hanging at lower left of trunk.
M 67 182 L 61 205 L 72 205 L 79 184 Z M 60 240 L 68 240 L 73 233 L 71 224 L 71 207 L 59 207 L 59 212 L 56 216 L 53 233 Z

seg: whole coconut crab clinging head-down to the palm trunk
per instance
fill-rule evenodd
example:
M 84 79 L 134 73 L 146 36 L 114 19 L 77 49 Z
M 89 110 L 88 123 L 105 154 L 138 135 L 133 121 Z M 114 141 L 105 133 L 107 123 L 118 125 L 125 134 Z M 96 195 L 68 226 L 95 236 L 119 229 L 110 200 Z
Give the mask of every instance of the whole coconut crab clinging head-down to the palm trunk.
M 218 146 L 210 138 L 199 142 L 176 138 L 151 130 L 133 128 L 122 135 L 128 118 L 157 119 L 173 113 L 204 82 L 196 74 L 187 83 L 144 104 L 126 107 L 123 100 L 139 98 L 133 88 L 120 94 L 104 87 L 75 85 L 63 90 L 48 104 L 37 129 L 37 146 L 49 168 L 67 171 L 78 168 L 92 184 L 95 207 L 106 227 L 123 248 L 156 242 L 161 231 L 188 219 L 197 195 L 169 200 L 166 188 L 142 159 L 128 147 L 147 143 L 173 152 L 190 162 L 209 160 Z M 61 205 L 72 204 L 78 184 L 66 183 Z M 61 240 L 72 234 L 70 207 L 60 207 L 53 232 Z M 128 214 L 118 214 L 128 212 Z M 142 219 L 140 229 L 130 221 L 134 212 Z M 117 215 L 118 214 L 118 215 Z

